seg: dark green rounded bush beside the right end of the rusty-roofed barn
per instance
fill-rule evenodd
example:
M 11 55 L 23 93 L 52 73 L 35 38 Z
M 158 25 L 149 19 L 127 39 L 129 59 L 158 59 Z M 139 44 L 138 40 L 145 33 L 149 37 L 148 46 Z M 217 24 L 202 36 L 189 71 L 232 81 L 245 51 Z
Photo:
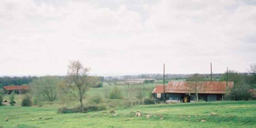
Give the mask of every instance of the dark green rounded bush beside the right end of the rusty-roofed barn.
M 253 99 L 252 93 L 250 92 L 250 85 L 239 82 L 234 85 L 233 88 L 224 97 L 225 100 L 250 100 Z

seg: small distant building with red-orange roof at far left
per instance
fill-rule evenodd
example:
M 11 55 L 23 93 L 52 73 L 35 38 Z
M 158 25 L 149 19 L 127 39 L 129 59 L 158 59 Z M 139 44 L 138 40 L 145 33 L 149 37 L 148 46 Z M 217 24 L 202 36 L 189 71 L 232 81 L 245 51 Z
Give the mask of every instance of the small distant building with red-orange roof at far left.
M 25 94 L 28 92 L 29 86 L 28 85 L 3 86 L 3 90 L 4 90 L 5 94 L 11 94 L 12 92 L 14 92 L 16 94 Z

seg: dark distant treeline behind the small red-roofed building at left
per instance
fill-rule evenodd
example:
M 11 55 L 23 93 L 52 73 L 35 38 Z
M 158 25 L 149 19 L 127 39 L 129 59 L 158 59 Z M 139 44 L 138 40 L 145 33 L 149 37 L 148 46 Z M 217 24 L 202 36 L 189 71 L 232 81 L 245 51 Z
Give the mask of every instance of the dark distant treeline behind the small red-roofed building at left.
M 4 77 L 0 77 L 0 87 L 8 86 L 8 85 L 28 84 L 34 79 L 38 79 L 38 77 L 37 76 L 23 76 L 23 77 L 4 76 Z

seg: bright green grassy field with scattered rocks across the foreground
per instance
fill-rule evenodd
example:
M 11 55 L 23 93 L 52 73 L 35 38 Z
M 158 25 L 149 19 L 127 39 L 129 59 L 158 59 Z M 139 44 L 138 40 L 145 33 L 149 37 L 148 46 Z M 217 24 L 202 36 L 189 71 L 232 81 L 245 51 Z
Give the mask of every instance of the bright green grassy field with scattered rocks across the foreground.
M 134 117 L 131 111 L 142 111 Z M 167 127 L 256 127 L 256 101 L 216 101 L 181 104 L 139 105 L 129 109 L 57 114 L 55 107 L 0 106 L 3 128 L 167 128 Z M 214 112 L 216 115 L 210 115 Z M 147 119 L 145 115 L 152 115 Z M 39 119 L 39 117 L 42 119 Z M 5 117 L 9 118 L 5 122 Z M 163 117 L 161 120 L 160 118 Z M 201 120 L 206 120 L 201 122 Z

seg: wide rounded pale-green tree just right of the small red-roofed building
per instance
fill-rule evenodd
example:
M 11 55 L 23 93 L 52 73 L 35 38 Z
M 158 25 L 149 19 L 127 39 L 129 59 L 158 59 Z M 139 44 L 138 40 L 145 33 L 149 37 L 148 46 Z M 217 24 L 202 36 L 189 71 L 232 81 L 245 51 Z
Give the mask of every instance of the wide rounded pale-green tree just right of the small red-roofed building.
M 38 99 L 54 101 L 57 99 L 57 84 L 59 82 L 56 76 L 43 76 L 33 80 L 30 85 L 32 93 Z

